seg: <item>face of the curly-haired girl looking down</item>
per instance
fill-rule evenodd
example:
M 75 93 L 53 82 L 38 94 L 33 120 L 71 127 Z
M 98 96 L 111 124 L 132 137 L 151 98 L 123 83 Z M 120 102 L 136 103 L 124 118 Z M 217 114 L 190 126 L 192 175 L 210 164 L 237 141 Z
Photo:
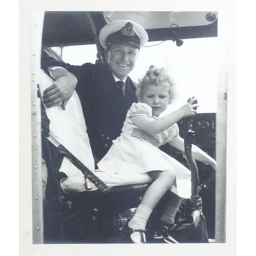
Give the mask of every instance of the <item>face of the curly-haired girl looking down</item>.
M 166 110 L 170 95 L 167 86 L 146 86 L 143 91 L 141 102 L 151 106 L 152 114 L 159 116 Z

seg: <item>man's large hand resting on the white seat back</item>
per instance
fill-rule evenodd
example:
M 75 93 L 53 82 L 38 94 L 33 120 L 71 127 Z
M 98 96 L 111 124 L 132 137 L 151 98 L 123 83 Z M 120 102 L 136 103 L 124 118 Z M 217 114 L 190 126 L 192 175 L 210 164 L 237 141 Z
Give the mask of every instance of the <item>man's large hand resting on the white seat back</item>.
M 44 91 L 42 102 L 47 108 L 62 102 L 61 108 L 65 110 L 75 91 L 77 78 L 65 69 L 56 69 L 52 75 L 56 81 Z

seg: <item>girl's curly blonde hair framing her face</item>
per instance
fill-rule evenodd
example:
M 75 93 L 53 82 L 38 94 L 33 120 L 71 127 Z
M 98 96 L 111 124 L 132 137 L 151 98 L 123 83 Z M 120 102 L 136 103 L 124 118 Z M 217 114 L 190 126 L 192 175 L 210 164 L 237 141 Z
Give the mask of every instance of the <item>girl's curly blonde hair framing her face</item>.
M 144 89 L 146 86 L 167 86 L 169 87 L 169 104 L 174 102 L 177 92 L 173 79 L 167 74 L 165 68 L 157 69 L 155 66 L 150 66 L 145 76 L 139 80 L 136 90 L 136 96 L 139 101 L 142 100 Z

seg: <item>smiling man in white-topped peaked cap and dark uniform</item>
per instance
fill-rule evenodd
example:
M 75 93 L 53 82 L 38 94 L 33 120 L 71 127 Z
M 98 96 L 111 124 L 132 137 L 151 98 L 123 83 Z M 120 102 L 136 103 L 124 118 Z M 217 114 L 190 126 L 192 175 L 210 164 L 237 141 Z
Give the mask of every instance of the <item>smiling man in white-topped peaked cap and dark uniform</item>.
M 140 25 L 132 20 L 118 20 L 104 26 L 99 34 L 106 65 L 96 62 L 72 66 L 42 58 L 42 69 L 56 80 L 44 91 L 44 104 L 51 108 L 61 103 L 65 110 L 76 90 L 92 152 L 99 160 L 120 136 L 127 110 L 137 102 L 136 86 L 128 74 L 147 40 L 147 33 Z

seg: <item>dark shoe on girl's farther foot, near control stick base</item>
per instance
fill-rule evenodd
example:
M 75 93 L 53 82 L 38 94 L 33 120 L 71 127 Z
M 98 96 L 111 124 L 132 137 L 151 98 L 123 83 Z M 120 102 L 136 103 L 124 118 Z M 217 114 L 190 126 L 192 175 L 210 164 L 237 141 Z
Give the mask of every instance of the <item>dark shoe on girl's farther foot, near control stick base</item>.
M 175 227 L 175 224 L 168 224 L 164 221 L 158 220 L 155 224 L 155 234 L 154 239 L 164 239 L 167 243 L 175 243 L 178 242 L 170 235 L 172 229 Z

